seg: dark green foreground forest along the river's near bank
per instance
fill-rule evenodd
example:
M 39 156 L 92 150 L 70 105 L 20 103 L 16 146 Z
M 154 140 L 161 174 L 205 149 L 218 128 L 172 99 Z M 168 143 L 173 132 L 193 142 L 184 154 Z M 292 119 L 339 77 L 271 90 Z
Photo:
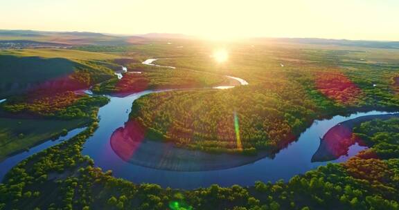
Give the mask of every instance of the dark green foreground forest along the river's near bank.
M 371 124 L 382 127 L 371 128 Z M 327 164 L 288 182 L 256 182 L 251 187 L 191 191 L 133 184 L 103 172 L 80 151 L 96 130 L 85 131 L 19 163 L 0 184 L 2 209 L 398 209 L 399 160 L 359 155 L 343 164 Z M 378 144 L 395 144 L 381 133 L 398 133 L 398 119 L 367 122 L 356 129 L 375 153 Z M 396 150 L 397 153 L 398 150 Z M 396 156 L 397 157 L 397 156 Z M 46 196 L 44 196 L 46 195 Z

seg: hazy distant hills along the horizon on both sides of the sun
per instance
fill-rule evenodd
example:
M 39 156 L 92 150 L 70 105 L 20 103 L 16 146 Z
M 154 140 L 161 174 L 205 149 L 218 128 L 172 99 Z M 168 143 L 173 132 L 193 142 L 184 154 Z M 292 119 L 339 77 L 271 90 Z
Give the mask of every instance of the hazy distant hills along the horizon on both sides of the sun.
M 98 32 L 48 32 L 37 30 L 0 30 L 0 41 L 29 40 L 67 45 L 145 44 L 154 39 L 195 39 L 193 36 L 172 33 L 148 33 L 144 35 L 112 35 Z M 332 46 L 357 46 L 365 48 L 399 49 L 399 41 L 360 41 L 348 39 L 318 38 L 254 38 L 256 41 L 277 41 L 293 44 L 317 44 Z

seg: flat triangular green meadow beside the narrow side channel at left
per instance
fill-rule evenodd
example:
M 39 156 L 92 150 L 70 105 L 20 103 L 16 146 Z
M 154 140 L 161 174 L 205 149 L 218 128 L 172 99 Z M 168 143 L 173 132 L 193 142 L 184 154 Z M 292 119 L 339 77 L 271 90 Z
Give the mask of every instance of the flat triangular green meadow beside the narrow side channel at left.
M 38 120 L 0 118 L 0 161 L 8 155 L 24 151 L 43 140 L 88 123 L 79 120 Z

